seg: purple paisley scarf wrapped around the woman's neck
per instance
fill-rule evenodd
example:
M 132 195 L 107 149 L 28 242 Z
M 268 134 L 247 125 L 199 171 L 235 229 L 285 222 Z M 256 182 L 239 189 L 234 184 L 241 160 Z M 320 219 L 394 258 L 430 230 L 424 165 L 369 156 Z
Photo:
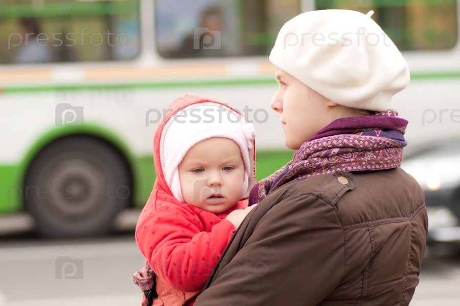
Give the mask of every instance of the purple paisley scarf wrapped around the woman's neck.
M 333 121 L 295 151 L 292 161 L 258 182 L 249 205 L 290 181 L 313 175 L 399 167 L 407 123 L 394 109 Z

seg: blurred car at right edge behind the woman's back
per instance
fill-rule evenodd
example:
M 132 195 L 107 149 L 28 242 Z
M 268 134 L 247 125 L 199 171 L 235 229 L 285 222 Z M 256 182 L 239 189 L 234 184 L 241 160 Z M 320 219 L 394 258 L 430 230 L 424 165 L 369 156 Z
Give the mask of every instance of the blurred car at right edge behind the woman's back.
M 418 149 L 401 168 L 425 192 L 428 243 L 460 242 L 460 139 Z

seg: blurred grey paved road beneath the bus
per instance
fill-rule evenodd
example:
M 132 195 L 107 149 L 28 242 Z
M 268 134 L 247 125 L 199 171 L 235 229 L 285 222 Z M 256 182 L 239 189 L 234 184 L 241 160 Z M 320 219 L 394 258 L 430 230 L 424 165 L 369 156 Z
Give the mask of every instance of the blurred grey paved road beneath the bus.
M 64 273 L 72 264 L 76 273 L 62 278 L 66 263 Z M 132 232 L 80 241 L 0 238 L 0 306 L 139 306 L 131 274 L 143 264 Z M 428 305 L 460 305 L 460 257 L 425 258 L 411 306 Z

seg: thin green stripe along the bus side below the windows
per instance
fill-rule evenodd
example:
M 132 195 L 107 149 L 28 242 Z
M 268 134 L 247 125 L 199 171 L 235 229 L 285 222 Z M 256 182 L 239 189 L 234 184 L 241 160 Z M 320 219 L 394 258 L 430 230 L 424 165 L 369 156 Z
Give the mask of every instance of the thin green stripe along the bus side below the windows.
M 410 79 L 458 79 L 460 72 L 433 72 L 413 73 Z M 0 88 L 0 93 L 26 93 L 40 91 L 65 91 L 65 90 L 113 90 L 113 89 L 143 89 L 143 88 L 171 88 L 171 87 L 206 87 L 206 86 L 235 86 L 235 85 L 275 85 L 272 78 L 246 79 L 246 80 L 208 80 L 208 81 L 171 81 L 150 83 L 121 83 L 121 84 L 82 84 L 82 85 L 49 85 L 49 86 L 15 86 Z

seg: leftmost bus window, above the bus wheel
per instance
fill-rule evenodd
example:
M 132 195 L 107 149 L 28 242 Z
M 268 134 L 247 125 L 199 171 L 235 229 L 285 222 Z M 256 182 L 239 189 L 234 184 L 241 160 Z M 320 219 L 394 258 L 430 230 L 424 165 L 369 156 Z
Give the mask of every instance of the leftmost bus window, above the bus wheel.
M 2 64 L 128 60 L 139 52 L 139 0 L 0 3 Z

